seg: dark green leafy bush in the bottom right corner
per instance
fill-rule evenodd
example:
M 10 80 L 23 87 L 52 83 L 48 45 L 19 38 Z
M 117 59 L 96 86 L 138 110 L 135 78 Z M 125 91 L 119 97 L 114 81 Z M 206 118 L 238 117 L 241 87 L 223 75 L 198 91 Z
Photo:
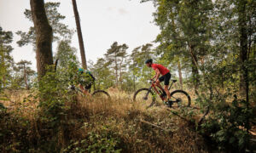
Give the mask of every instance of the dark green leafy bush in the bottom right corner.
M 249 146 L 247 130 L 253 119 L 253 109 L 247 109 L 247 102 L 234 99 L 232 105 L 216 105 L 201 130 L 210 135 L 219 150 L 243 151 Z

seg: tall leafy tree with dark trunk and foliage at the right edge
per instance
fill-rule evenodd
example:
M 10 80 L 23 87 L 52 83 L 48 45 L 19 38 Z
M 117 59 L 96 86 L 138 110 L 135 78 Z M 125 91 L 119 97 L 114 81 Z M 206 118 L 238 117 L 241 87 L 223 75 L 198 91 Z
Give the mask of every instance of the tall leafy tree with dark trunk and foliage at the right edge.
M 256 3 L 248 0 L 216 2 L 216 26 L 215 32 L 218 37 L 214 42 L 215 48 L 218 48 L 221 56 L 215 56 L 219 59 L 229 59 L 236 69 L 233 75 L 239 77 L 239 92 L 248 100 L 249 74 L 253 75 L 253 61 L 250 60 L 255 45 L 255 28 L 256 28 Z M 225 56 L 225 57 L 224 57 Z M 228 57 L 228 58 L 227 58 Z M 238 66 L 237 66 L 238 65 Z

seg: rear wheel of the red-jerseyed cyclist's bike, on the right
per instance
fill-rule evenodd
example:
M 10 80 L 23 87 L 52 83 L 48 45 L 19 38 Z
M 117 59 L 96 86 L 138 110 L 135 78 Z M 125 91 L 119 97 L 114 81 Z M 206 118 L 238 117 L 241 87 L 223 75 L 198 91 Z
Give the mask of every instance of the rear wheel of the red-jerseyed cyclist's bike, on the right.
M 188 93 L 183 90 L 175 90 L 171 93 L 172 108 L 189 107 L 191 105 L 191 98 Z

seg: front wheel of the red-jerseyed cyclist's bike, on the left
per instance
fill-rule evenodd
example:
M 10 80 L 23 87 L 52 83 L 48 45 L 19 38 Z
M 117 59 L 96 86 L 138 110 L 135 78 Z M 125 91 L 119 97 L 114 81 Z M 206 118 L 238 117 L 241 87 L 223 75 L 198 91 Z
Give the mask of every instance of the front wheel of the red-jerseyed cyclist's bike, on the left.
M 133 95 L 133 101 L 137 102 L 138 105 L 149 108 L 155 103 L 155 95 L 148 88 L 141 88 Z

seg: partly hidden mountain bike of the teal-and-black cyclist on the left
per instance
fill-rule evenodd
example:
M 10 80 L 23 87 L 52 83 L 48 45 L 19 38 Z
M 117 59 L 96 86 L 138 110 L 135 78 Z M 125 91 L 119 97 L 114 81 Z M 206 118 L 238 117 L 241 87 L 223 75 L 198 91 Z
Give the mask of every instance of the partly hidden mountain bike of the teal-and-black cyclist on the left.
M 78 94 L 81 94 L 82 96 L 86 96 L 83 91 L 80 88 L 77 88 L 75 85 L 71 85 L 69 89 L 71 91 L 77 92 Z M 91 93 L 90 90 L 88 93 Z M 110 95 L 104 90 L 95 90 L 92 94 L 90 94 L 90 96 L 94 99 L 110 99 Z

